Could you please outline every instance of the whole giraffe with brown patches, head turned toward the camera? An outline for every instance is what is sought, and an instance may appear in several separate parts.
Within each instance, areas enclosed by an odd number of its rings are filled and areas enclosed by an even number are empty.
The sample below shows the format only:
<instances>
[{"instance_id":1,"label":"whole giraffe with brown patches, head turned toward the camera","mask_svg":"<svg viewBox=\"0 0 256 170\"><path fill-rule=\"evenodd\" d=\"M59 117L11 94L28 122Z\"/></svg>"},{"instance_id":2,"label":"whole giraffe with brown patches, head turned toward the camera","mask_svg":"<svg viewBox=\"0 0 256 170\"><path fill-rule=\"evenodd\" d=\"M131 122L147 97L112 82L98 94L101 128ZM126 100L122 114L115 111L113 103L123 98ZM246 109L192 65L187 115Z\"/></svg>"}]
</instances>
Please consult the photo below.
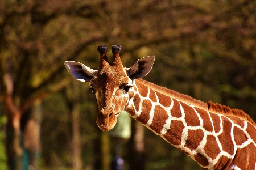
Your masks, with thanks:
<instances>
[{"instance_id":1,"label":"whole giraffe with brown patches, head turned toward the camera","mask_svg":"<svg viewBox=\"0 0 256 170\"><path fill-rule=\"evenodd\" d=\"M89 82L100 111L96 121L100 129L111 130L125 110L203 169L256 170L256 124L245 112L212 101L207 104L141 79L151 70L154 56L141 58L127 69L119 45L112 46L111 63L106 45L97 50L98 70L75 61L66 61L65 67L75 79Z\"/></svg>"}]
</instances>

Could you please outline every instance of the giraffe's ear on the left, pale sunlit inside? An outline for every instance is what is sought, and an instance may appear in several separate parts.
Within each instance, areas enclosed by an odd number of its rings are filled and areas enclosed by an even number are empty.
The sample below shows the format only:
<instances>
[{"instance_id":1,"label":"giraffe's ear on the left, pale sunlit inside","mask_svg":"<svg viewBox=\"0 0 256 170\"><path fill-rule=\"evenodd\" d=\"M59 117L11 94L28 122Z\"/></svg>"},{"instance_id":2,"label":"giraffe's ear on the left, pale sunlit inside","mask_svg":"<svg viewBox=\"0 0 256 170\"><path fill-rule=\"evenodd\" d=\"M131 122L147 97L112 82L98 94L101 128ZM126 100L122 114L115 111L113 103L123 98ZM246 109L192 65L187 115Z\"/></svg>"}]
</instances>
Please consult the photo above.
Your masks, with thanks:
<instances>
[{"instance_id":1,"label":"giraffe's ear on the left, pale sunlit inside","mask_svg":"<svg viewBox=\"0 0 256 170\"><path fill-rule=\"evenodd\" d=\"M65 61L64 65L73 78L81 82L89 82L97 73L97 70L90 69L80 62Z\"/></svg>"}]
</instances>

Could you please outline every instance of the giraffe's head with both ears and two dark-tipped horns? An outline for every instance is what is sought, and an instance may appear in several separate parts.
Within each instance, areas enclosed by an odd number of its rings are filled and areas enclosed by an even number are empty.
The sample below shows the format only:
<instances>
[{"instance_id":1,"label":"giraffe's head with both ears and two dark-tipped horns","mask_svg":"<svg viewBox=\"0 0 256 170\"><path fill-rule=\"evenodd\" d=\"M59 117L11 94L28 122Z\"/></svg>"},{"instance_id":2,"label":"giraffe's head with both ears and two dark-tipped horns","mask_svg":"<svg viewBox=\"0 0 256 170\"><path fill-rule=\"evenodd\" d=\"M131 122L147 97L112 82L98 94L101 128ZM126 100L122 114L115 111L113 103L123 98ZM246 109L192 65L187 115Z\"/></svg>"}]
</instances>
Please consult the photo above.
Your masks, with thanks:
<instances>
[{"instance_id":1,"label":"giraffe's head with both ears and two dark-tipped horns","mask_svg":"<svg viewBox=\"0 0 256 170\"><path fill-rule=\"evenodd\" d=\"M98 46L100 66L98 70L90 69L82 63L66 61L69 73L81 82L89 82L90 90L97 98L97 125L104 131L114 128L117 116L129 105L129 92L133 90L133 80L142 78L151 70L154 56L139 59L130 69L123 67L119 45L112 46L113 61L106 56L106 45Z\"/></svg>"}]
</instances>

